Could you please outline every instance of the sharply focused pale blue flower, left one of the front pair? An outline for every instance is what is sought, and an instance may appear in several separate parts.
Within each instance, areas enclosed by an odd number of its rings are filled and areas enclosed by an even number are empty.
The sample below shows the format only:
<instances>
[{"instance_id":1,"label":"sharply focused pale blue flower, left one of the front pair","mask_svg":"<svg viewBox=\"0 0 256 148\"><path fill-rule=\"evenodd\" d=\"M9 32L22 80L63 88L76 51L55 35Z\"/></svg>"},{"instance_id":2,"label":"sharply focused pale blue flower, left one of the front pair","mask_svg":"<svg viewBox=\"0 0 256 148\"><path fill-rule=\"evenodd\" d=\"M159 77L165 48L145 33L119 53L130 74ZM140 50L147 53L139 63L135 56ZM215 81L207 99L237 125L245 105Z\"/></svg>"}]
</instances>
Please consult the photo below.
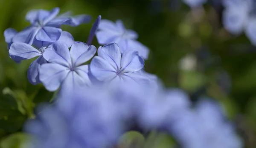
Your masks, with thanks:
<instances>
[{"instance_id":1,"label":"sharply focused pale blue flower, left one of the front pair","mask_svg":"<svg viewBox=\"0 0 256 148\"><path fill-rule=\"evenodd\" d=\"M90 84L88 65L82 65L96 53L96 47L83 42L75 42L70 50L61 41L57 41L44 51L48 62L39 69L39 80L47 90L55 91L64 82L64 87L75 87Z\"/></svg>"}]
</instances>

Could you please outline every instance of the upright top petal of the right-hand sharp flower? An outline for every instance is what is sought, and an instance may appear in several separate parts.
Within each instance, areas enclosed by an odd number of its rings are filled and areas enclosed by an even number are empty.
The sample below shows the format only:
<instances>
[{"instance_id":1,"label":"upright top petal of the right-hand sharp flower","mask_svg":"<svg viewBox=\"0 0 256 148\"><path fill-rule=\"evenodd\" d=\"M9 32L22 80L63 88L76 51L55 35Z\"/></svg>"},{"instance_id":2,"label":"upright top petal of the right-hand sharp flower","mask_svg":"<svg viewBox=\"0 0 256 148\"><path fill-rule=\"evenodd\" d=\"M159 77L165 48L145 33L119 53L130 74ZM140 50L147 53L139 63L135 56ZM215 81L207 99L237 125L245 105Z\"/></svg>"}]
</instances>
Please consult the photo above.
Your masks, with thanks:
<instances>
[{"instance_id":1,"label":"upright top petal of the right-hand sharp flower","mask_svg":"<svg viewBox=\"0 0 256 148\"><path fill-rule=\"evenodd\" d=\"M98 56L102 57L111 64L116 71L119 71L121 64L121 52L116 43L111 43L103 47L99 47Z\"/></svg>"}]
</instances>

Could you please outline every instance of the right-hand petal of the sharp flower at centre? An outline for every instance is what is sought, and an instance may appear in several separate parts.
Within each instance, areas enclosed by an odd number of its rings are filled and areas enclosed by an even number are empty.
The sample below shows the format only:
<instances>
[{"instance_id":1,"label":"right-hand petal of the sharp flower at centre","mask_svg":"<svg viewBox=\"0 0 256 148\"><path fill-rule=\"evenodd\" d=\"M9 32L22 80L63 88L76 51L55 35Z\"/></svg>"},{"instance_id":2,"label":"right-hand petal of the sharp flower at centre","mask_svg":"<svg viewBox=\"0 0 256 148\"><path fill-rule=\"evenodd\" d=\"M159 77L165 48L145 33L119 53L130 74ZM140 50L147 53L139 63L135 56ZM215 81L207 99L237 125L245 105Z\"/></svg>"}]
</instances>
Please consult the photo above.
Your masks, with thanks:
<instances>
[{"instance_id":1,"label":"right-hand petal of the sharp flower at centre","mask_svg":"<svg viewBox=\"0 0 256 148\"><path fill-rule=\"evenodd\" d=\"M121 58L121 67L123 72L139 71L144 67L144 60L137 51L125 50Z\"/></svg>"}]
</instances>

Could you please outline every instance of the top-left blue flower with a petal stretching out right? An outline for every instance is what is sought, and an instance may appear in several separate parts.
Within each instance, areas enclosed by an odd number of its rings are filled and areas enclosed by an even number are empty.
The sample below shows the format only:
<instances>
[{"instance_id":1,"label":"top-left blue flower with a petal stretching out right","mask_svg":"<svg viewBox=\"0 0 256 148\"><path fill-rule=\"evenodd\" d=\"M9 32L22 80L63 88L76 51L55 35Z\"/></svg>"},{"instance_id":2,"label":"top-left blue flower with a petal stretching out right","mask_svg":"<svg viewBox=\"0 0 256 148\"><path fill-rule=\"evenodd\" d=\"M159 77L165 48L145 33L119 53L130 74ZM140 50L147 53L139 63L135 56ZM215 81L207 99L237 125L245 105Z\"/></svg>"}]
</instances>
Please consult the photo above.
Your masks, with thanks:
<instances>
[{"instance_id":1,"label":"top-left blue flower with a petal stretching out right","mask_svg":"<svg viewBox=\"0 0 256 148\"><path fill-rule=\"evenodd\" d=\"M77 26L91 20L88 15L70 17L68 14L57 16L60 9L51 11L32 10L26 14L26 20L31 23L29 27L17 33L12 42L23 42L32 45L36 41L56 42L61 36L61 25Z\"/></svg>"}]
</instances>

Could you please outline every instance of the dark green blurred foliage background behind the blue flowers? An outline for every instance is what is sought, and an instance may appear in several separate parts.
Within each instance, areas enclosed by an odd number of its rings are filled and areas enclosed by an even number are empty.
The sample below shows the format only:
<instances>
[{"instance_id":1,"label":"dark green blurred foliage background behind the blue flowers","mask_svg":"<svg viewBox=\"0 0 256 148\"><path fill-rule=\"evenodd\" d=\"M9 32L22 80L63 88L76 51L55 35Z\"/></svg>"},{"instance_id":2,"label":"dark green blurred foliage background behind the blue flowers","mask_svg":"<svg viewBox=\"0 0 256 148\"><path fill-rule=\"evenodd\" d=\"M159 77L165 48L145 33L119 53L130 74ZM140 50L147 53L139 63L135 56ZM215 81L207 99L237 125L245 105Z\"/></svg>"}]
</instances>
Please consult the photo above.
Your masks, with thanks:
<instances>
[{"instance_id":1,"label":"dark green blurred foliage background behind the blue flowers","mask_svg":"<svg viewBox=\"0 0 256 148\"><path fill-rule=\"evenodd\" d=\"M22 131L25 120L34 117L34 107L54 96L42 85L28 82L27 69L34 59L16 64L9 58L3 31L27 27L24 18L31 9L54 7L61 13L93 17L89 24L62 28L81 42L87 41L99 14L102 19L122 20L150 49L145 71L157 75L166 87L186 90L192 101L208 96L223 103L246 147L255 148L256 47L244 34L234 36L223 28L220 0L209 0L197 9L181 0L0 0L1 147L9 148L6 137ZM99 47L96 38L93 45Z\"/></svg>"}]
</instances>

